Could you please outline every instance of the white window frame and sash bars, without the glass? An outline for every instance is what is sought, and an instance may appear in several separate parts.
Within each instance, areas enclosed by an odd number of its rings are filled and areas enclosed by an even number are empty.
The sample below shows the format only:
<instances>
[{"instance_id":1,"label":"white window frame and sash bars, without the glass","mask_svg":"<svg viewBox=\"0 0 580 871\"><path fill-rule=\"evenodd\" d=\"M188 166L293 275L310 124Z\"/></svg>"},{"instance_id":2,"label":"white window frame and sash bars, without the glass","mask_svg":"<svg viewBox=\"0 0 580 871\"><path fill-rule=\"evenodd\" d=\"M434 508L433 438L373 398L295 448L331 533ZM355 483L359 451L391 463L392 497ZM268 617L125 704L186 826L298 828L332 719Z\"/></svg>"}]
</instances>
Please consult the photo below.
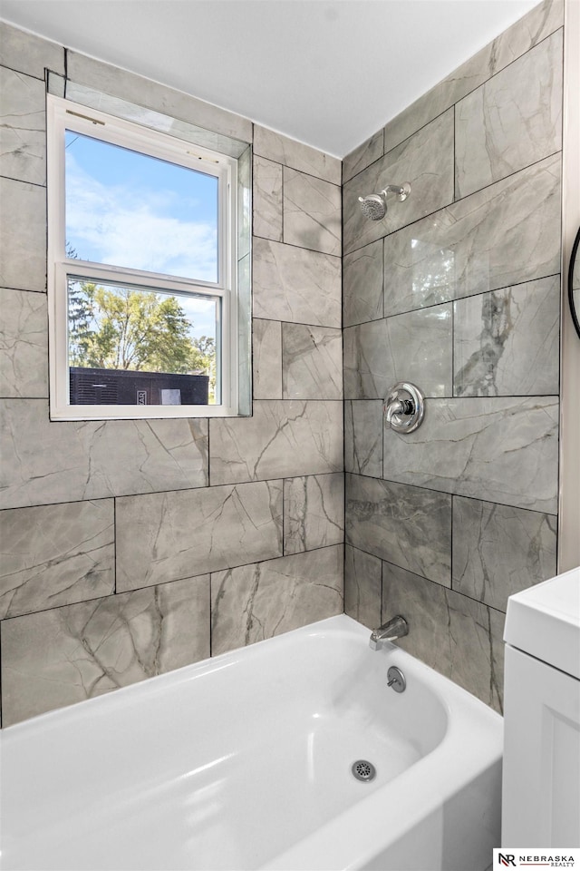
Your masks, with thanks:
<instances>
[{"instance_id":1,"label":"white window frame and sash bars, without the glass","mask_svg":"<svg viewBox=\"0 0 580 871\"><path fill-rule=\"evenodd\" d=\"M66 256L66 131L157 157L218 178L218 281L176 278L162 273L93 263ZM53 420L108 420L163 417L237 416L237 160L134 122L47 94L48 305L50 414ZM71 405L68 365L67 277L113 281L135 289L203 294L218 300L216 335L219 404L189 406Z\"/></svg>"}]
</instances>

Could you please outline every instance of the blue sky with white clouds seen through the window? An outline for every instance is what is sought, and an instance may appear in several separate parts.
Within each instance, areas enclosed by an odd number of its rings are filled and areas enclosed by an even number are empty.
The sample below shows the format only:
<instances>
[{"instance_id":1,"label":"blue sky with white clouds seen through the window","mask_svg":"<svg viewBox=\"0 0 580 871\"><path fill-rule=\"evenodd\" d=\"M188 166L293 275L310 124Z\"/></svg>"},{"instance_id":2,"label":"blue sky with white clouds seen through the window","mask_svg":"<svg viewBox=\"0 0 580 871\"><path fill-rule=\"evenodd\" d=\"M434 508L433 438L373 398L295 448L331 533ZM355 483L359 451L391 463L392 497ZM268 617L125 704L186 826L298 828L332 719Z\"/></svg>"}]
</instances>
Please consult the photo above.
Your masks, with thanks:
<instances>
[{"instance_id":1,"label":"blue sky with white clouds seen through the window","mask_svg":"<svg viewBox=\"0 0 580 871\"><path fill-rule=\"evenodd\" d=\"M80 259L218 279L218 181L139 152L66 133L66 241ZM180 297L195 335L215 335L212 303Z\"/></svg>"}]
</instances>

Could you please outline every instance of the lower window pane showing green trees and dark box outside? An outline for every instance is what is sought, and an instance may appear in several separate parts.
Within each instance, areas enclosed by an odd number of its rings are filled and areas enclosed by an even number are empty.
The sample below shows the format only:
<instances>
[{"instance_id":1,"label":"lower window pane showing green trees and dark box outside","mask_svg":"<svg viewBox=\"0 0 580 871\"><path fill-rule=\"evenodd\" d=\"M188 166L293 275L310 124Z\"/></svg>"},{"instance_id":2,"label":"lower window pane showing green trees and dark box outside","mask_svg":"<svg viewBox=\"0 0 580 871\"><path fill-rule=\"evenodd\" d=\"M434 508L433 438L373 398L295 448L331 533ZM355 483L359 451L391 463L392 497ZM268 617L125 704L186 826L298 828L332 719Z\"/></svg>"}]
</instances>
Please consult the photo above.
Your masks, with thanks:
<instances>
[{"instance_id":1,"label":"lower window pane showing green trees and dark box outside","mask_svg":"<svg viewBox=\"0 0 580 871\"><path fill-rule=\"evenodd\" d=\"M219 401L219 300L69 275L71 405Z\"/></svg>"}]
</instances>

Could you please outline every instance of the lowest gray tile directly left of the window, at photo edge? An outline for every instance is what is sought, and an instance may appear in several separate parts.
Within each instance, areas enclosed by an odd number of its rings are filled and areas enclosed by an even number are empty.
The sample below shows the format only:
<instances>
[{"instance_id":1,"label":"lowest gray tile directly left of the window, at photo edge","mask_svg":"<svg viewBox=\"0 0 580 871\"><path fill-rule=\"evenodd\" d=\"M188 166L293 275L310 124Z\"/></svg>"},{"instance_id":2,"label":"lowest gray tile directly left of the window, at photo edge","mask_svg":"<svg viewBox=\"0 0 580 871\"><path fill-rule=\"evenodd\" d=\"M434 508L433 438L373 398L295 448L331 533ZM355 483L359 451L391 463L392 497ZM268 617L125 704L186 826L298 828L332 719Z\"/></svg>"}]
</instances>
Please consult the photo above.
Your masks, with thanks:
<instances>
[{"instance_id":1,"label":"lowest gray tile directly left of the window, at photo edge","mask_svg":"<svg viewBox=\"0 0 580 871\"><path fill-rule=\"evenodd\" d=\"M46 294L0 289L0 396L48 396Z\"/></svg>"}]
</instances>

